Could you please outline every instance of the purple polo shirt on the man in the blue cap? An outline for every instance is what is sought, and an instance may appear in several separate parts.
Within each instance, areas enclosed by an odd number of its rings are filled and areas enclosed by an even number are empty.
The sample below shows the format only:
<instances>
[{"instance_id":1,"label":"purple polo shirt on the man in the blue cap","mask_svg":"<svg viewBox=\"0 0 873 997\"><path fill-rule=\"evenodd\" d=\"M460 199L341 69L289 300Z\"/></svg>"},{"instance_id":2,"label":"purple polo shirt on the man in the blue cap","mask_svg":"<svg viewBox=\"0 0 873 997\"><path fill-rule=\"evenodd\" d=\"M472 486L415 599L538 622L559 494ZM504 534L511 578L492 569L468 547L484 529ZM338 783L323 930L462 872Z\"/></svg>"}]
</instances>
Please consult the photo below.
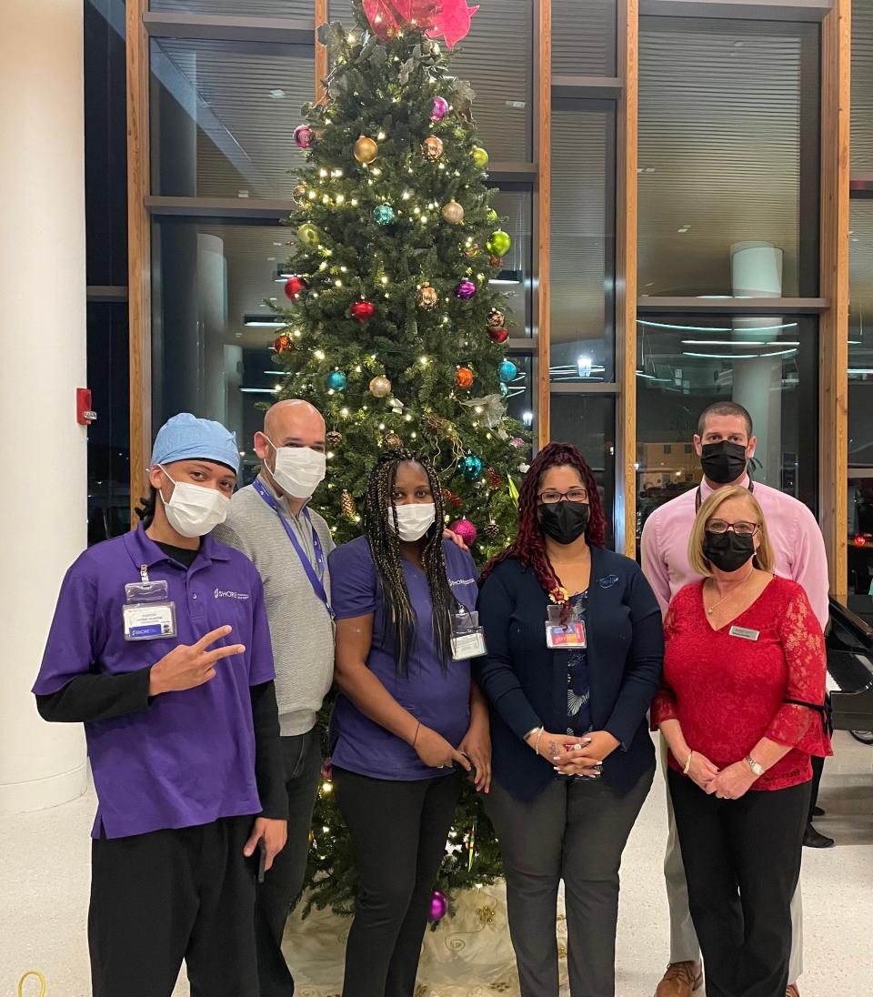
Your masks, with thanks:
<instances>
[{"instance_id":1,"label":"purple polo shirt on the man in the blue cap","mask_svg":"<svg viewBox=\"0 0 873 997\"><path fill-rule=\"evenodd\" d=\"M177 635L127 641L125 585L165 579ZM85 725L98 796L94 837L126 837L259 814L249 686L274 678L261 579L237 550L204 536L191 566L167 557L141 526L86 550L64 578L33 691L48 695L78 675L146 668L216 627L214 644L244 644L210 682L156 696L142 713Z\"/></svg>"}]
</instances>

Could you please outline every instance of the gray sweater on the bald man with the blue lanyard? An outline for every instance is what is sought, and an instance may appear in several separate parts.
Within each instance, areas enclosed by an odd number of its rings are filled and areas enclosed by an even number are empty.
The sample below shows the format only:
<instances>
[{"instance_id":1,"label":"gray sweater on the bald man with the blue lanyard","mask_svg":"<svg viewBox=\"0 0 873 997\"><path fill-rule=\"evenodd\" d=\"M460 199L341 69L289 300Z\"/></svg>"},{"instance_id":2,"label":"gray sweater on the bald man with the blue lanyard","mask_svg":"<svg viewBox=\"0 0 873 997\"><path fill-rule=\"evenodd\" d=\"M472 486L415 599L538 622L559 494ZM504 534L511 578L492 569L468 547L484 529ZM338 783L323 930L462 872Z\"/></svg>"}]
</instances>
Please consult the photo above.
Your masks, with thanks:
<instances>
[{"instance_id":1,"label":"gray sweater on the bald man with the blue lanyard","mask_svg":"<svg viewBox=\"0 0 873 997\"><path fill-rule=\"evenodd\" d=\"M259 481L275 497L263 476ZM325 556L324 584L330 598L327 555L334 541L327 523L318 512L310 510L310 526L302 513L291 514L284 499L278 502L313 565L312 527L318 531ZM315 726L316 714L333 681L330 614L315 594L278 515L252 486L240 489L230 499L227 519L212 530L212 535L241 550L260 572L276 662L279 726L283 737L305 734Z\"/></svg>"}]
</instances>

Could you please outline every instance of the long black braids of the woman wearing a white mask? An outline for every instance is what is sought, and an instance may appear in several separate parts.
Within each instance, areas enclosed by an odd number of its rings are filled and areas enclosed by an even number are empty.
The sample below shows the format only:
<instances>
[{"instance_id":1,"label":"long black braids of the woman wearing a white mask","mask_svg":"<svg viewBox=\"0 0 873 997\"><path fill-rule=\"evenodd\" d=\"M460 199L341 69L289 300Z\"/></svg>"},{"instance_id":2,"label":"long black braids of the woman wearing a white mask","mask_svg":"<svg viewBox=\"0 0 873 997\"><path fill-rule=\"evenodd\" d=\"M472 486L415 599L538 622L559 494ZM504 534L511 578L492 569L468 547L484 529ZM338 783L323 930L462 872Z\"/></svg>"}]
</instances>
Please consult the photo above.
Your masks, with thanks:
<instances>
[{"instance_id":1,"label":"long black braids of the woman wearing a white mask","mask_svg":"<svg viewBox=\"0 0 873 997\"><path fill-rule=\"evenodd\" d=\"M447 663L450 654L451 614L455 607L455 599L448 584L445 558L442 553L444 513L442 489L439 485L437 472L430 459L424 454L417 454L409 450L386 451L380 455L376 467L370 472L370 480L367 483L364 533L370 544L373 562L382 582L382 597L385 600L393 629L397 634L394 645L394 660L401 675L407 673L410 652L416 638L416 614L404 577L397 505L394 499L398 467L407 462L419 464L425 469L436 506L436 521L426 534L422 562L425 567L425 576L428 579L428 587L431 590L434 640L443 664ZM389 526L389 514L394 518L394 529Z\"/></svg>"}]
</instances>

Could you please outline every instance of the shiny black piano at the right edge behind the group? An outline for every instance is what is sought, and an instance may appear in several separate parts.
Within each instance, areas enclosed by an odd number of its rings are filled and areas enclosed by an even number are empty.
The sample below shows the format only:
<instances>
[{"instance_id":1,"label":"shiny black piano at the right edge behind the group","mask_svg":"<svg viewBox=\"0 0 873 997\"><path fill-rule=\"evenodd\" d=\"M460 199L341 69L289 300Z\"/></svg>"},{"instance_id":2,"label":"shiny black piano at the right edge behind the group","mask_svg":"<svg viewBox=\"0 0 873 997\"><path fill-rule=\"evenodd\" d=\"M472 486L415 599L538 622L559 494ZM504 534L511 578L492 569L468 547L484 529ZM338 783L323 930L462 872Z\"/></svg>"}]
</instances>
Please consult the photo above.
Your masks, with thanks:
<instances>
[{"instance_id":1,"label":"shiny black piano at the right edge behind the group","mask_svg":"<svg viewBox=\"0 0 873 997\"><path fill-rule=\"evenodd\" d=\"M873 627L832 598L826 643L833 728L873 745Z\"/></svg>"}]
</instances>

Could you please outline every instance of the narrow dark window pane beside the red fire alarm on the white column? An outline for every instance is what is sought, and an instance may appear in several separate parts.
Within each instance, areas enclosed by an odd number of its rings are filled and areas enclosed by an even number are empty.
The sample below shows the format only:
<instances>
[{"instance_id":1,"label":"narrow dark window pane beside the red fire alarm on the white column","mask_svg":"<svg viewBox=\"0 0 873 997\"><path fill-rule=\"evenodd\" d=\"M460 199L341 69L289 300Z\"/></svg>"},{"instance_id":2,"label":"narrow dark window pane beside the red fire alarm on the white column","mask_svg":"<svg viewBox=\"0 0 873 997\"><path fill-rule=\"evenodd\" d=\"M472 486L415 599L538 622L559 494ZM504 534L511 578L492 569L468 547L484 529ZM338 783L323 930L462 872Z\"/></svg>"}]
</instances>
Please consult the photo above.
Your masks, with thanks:
<instances>
[{"instance_id":1,"label":"narrow dark window pane beside the red fire alarm on the white column","mask_svg":"<svg viewBox=\"0 0 873 997\"><path fill-rule=\"evenodd\" d=\"M88 427L88 542L131 528L128 305L88 305L88 383L97 422Z\"/></svg>"}]
</instances>

